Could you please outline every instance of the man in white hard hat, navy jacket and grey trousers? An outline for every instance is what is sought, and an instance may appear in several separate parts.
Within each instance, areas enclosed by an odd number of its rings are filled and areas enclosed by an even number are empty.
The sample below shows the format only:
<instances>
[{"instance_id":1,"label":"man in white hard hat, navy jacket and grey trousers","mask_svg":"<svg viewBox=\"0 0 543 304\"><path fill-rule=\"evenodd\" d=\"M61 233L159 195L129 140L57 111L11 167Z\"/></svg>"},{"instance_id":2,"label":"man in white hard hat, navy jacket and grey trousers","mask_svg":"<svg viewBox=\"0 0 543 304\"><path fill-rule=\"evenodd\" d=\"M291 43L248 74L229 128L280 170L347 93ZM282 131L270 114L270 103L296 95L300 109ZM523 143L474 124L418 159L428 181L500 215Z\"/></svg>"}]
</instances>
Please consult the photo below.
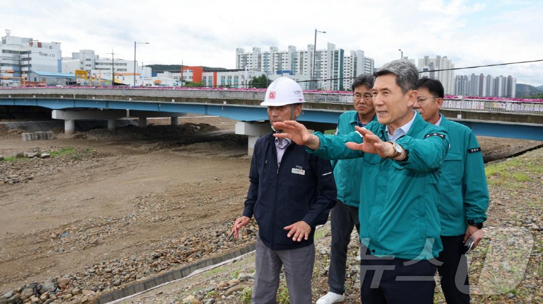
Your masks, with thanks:
<instances>
[{"instance_id":1,"label":"man in white hard hat, navy jacket and grey trousers","mask_svg":"<svg viewBox=\"0 0 543 304\"><path fill-rule=\"evenodd\" d=\"M304 101L300 85L280 77L268 87L261 105L268 106L269 121L274 124L296 120ZM252 216L258 223L251 302L276 302L283 267L290 302L310 304L315 226L326 222L336 201L330 161L271 132L256 141L249 180L243 216L236 219L232 232L237 238Z\"/></svg>"}]
</instances>

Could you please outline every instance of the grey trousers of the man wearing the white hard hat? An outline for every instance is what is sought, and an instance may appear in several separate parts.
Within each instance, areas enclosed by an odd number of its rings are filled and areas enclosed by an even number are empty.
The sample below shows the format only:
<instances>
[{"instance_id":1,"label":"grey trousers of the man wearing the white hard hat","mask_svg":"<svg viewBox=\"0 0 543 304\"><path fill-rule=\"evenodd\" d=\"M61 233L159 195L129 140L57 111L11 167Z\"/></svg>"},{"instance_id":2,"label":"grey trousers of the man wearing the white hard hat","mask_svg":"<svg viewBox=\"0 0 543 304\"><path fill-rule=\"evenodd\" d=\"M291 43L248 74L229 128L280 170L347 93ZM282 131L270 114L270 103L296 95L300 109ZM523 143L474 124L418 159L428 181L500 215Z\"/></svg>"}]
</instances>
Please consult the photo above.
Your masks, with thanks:
<instances>
[{"instance_id":1,"label":"grey trousers of the man wearing the white hard hat","mask_svg":"<svg viewBox=\"0 0 543 304\"><path fill-rule=\"evenodd\" d=\"M315 244L292 250L271 250L259 237L256 240L255 284L251 303L275 304L279 272L283 266L290 302L311 304L311 276L314 262Z\"/></svg>"}]
</instances>

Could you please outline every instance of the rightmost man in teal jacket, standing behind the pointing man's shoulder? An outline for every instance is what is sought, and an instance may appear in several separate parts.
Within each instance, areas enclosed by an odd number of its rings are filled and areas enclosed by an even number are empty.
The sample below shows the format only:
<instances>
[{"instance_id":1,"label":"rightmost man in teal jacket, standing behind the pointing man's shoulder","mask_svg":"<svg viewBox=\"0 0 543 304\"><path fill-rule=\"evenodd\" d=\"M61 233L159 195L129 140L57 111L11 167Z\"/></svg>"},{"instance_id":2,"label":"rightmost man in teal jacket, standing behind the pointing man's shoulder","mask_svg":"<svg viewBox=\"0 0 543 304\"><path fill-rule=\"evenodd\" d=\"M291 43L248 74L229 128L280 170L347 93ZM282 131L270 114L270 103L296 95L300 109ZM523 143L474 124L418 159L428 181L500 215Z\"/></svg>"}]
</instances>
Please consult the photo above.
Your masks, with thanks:
<instances>
[{"instance_id":1,"label":"rightmost man in teal jacket, standing behind the pointing man's shoulder","mask_svg":"<svg viewBox=\"0 0 543 304\"><path fill-rule=\"evenodd\" d=\"M417 92L414 108L427 122L449 131L451 143L438 184L441 191L438 209L443 243L443 251L438 257L443 263L438 266L441 289L447 304L469 303L464 243L471 238L473 247L477 246L483 237L483 222L487 219L488 187L483 156L470 128L439 114L444 98L443 85L439 80L420 79Z\"/></svg>"}]
</instances>

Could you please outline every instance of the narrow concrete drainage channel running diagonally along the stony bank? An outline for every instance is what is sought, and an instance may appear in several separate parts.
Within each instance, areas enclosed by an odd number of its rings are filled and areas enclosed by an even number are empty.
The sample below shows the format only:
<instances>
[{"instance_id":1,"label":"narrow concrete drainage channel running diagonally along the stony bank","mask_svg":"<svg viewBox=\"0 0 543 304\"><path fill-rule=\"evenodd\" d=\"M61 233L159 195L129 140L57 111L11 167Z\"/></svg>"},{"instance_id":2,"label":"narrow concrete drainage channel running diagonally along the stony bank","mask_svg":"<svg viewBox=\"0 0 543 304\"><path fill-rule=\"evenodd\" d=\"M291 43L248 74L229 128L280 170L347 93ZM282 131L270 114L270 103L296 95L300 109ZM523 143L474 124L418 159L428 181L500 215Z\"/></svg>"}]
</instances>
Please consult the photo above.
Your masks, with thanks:
<instances>
[{"instance_id":1,"label":"narrow concrete drainage channel running diagonally along the stony bank","mask_svg":"<svg viewBox=\"0 0 543 304\"><path fill-rule=\"evenodd\" d=\"M166 283L184 279L185 277L194 274L195 271L220 266L220 264L233 260L234 258L240 257L242 255L249 254L254 250L255 244L251 244L223 256L209 258L207 260L182 267L181 269L169 271L168 273L154 277L153 279L149 279L147 281L125 287L121 290L116 290L115 292L102 295L98 297L97 304L116 303L119 300L123 300L127 297L147 292L150 289L160 287Z\"/></svg>"}]
</instances>

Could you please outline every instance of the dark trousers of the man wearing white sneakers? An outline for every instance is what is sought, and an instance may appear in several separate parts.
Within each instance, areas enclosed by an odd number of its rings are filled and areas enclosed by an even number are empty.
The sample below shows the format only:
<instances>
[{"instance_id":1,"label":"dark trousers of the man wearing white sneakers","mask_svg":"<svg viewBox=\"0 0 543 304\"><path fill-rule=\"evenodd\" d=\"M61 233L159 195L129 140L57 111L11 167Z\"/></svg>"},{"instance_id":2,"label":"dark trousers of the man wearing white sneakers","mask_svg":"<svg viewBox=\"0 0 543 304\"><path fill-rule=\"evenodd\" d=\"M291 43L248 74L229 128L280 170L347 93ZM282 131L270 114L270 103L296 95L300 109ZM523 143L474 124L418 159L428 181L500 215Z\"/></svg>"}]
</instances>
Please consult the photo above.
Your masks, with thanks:
<instances>
[{"instance_id":1,"label":"dark trousers of the man wearing white sneakers","mask_svg":"<svg viewBox=\"0 0 543 304\"><path fill-rule=\"evenodd\" d=\"M338 200L336 206L332 208L331 213L332 248L330 250L328 286L331 292L343 294L345 292L347 249L351 241L352 228L356 227L358 235L360 234L358 208L345 205Z\"/></svg>"}]
</instances>

